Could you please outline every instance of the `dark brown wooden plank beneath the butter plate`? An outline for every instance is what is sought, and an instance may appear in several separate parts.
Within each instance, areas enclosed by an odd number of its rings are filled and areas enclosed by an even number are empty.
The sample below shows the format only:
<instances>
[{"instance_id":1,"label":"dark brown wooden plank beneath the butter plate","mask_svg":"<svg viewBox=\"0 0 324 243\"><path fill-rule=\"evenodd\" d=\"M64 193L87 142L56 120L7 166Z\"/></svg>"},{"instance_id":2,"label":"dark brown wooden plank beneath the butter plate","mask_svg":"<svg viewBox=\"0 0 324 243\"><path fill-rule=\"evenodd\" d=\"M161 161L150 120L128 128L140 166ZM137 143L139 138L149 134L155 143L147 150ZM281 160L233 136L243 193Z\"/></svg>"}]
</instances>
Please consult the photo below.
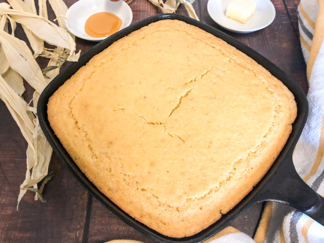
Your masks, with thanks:
<instances>
[{"instance_id":1,"label":"dark brown wooden plank beneath the butter plate","mask_svg":"<svg viewBox=\"0 0 324 243\"><path fill-rule=\"evenodd\" d=\"M198 1L198 0L197 0ZM208 0L199 0L203 12L202 22L224 31L248 45L290 75L304 92L308 90L306 64L300 42L295 34L282 0L272 0L276 17L268 27L247 34L233 33L216 24L207 11Z\"/></svg>"}]
</instances>

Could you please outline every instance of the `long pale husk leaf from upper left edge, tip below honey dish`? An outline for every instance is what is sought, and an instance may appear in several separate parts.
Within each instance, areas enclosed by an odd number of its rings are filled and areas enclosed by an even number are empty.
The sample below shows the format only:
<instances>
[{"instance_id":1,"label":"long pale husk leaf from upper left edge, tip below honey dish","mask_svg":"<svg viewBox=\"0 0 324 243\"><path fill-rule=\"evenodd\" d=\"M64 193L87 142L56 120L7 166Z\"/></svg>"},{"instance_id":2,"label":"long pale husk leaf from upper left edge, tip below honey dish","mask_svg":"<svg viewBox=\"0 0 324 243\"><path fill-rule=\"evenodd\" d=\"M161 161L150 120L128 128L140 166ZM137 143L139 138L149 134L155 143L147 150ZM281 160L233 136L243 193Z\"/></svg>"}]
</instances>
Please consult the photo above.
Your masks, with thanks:
<instances>
[{"instance_id":1,"label":"long pale husk leaf from upper left edge, tip below honey dish","mask_svg":"<svg viewBox=\"0 0 324 243\"><path fill-rule=\"evenodd\" d=\"M10 14L17 23L26 26L26 28L30 29L36 36L47 43L70 50L68 61L76 62L79 59L80 52L75 54L76 46L70 34L48 19L28 12L0 8L0 15L2 14Z\"/></svg>"}]
</instances>

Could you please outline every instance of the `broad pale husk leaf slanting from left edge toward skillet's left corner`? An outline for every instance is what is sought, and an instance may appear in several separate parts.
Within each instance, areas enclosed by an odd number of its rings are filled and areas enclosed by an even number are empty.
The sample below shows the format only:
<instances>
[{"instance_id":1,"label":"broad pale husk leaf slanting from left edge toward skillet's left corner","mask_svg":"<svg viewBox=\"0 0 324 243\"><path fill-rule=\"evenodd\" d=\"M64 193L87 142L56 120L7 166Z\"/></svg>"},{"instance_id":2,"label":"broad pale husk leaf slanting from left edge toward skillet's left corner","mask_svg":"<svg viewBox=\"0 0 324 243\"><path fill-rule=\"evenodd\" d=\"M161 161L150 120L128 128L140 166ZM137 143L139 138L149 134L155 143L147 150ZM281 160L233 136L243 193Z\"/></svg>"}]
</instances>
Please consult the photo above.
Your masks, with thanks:
<instances>
[{"instance_id":1,"label":"broad pale husk leaf slanting from left edge toward skillet's left corner","mask_svg":"<svg viewBox=\"0 0 324 243\"><path fill-rule=\"evenodd\" d=\"M0 42L10 67L18 72L31 87L41 93L47 82L26 43L1 29Z\"/></svg>"}]
</instances>

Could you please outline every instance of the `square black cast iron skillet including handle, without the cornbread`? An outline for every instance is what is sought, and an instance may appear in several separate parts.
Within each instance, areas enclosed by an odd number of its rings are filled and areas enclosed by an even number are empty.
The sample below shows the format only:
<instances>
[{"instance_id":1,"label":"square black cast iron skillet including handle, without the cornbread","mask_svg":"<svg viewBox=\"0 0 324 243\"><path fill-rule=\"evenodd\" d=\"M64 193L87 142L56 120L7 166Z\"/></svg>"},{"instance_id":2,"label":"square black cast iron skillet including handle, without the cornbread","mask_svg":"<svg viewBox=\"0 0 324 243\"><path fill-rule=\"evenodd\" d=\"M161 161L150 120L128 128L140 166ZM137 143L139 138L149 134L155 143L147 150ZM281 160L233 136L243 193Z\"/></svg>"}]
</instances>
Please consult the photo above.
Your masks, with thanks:
<instances>
[{"instance_id":1,"label":"square black cast iron skillet including handle, without the cornbread","mask_svg":"<svg viewBox=\"0 0 324 243\"><path fill-rule=\"evenodd\" d=\"M261 179L261 181L253 188L253 190L231 211L224 214L220 220L213 225L204 229L200 233L184 238L171 238L163 236L156 231L148 228L144 224L136 221L131 216L123 212L118 206L112 203L105 195L103 195L81 172L81 170L75 165L72 158L65 151L64 147L55 136L49 121L47 119L47 102L52 94L69 79L80 67L84 66L94 55L102 52L114 41L121 39L122 37L130 34L134 30L140 29L152 22L156 22L162 19L178 19L188 24L194 25L203 29L216 37L219 37L236 47L241 52L246 53L253 58L256 62L268 69L272 75L280 79L284 85L294 94L297 103L297 118L293 124L293 130L290 134L286 145L281 151L280 155L267 172L267 174ZM140 65L140 64L139 64ZM104 41L101 41L96 46L84 53L77 63L71 64L61 74L52 80L52 82L44 89L41 97L38 101L37 114L40 121L41 128L52 145L54 151L59 158L64 162L74 177L103 205L105 205L112 213L117 215L128 225L132 226L145 236L152 238L161 243L167 242L183 242L183 243L197 243L202 242L218 231L225 228L230 222L232 222L237 216L244 212L249 206L257 202L263 201L276 201L288 204L299 211L309 215L315 219L321 225L324 225L324 198L313 191L296 173L293 165L292 154L297 143L297 140L305 125L308 112L308 103L304 92L301 88L295 84L295 82L288 77L282 70L272 64L269 60L261 56L259 53L253 51L251 48L240 43L236 39L229 35L207 26L192 18L184 17L178 14L160 14L154 17L146 18L136 24L133 24L116 34L108 37Z\"/></svg>"}]
</instances>

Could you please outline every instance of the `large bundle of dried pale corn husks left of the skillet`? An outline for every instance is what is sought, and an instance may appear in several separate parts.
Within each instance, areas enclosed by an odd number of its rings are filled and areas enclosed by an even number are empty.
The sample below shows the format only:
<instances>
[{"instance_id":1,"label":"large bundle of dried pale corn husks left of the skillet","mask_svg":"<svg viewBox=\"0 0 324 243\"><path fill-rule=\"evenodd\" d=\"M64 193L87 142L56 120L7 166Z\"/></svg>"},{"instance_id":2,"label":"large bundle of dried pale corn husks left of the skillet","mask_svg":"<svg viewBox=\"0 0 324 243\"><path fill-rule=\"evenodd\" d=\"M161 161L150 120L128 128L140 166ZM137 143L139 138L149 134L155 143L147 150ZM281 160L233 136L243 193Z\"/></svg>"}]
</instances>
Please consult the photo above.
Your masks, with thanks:
<instances>
[{"instance_id":1,"label":"large bundle of dried pale corn husks left of the skillet","mask_svg":"<svg viewBox=\"0 0 324 243\"><path fill-rule=\"evenodd\" d=\"M59 25L57 27L47 18L46 0L40 0L40 16L36 15L35 2L33 0L9 0L14 9L6 3L0 4L0 98L5 102L8 110L17 122L28 148L26 177L20 186L18 204L27 190L36 192L35 200L42 198L42 190L47 181L52 177L48 174L48 167L52 156L52 147L47 142L37 118L37 102L42 90L59 73L59 69L66 61L77 61L80 55L75 54L75 42L66 32L66 26L62 14L67 7L62 0L51 0ZM65 11L65 12L64 12ZM12 29L16 22L21 23L29 42L34 50L34 56L38 55L50 58L46 71L46 78L29 48L24 41L8 34L7 20ZM13 34L13 33L12 33ZM46 49L43 40L58 46L55 49ZM45 70L44 70L45 71ZM30 107L20 96L24 92L22 77L35 88L33 95L33 107ZM32 170L32 173L30 171ZM45 178L45 179L44 179ZM37 183L42 179L40 189ZM17 209L18 209L17 204Z\"/></svg>"}]
</instances>

